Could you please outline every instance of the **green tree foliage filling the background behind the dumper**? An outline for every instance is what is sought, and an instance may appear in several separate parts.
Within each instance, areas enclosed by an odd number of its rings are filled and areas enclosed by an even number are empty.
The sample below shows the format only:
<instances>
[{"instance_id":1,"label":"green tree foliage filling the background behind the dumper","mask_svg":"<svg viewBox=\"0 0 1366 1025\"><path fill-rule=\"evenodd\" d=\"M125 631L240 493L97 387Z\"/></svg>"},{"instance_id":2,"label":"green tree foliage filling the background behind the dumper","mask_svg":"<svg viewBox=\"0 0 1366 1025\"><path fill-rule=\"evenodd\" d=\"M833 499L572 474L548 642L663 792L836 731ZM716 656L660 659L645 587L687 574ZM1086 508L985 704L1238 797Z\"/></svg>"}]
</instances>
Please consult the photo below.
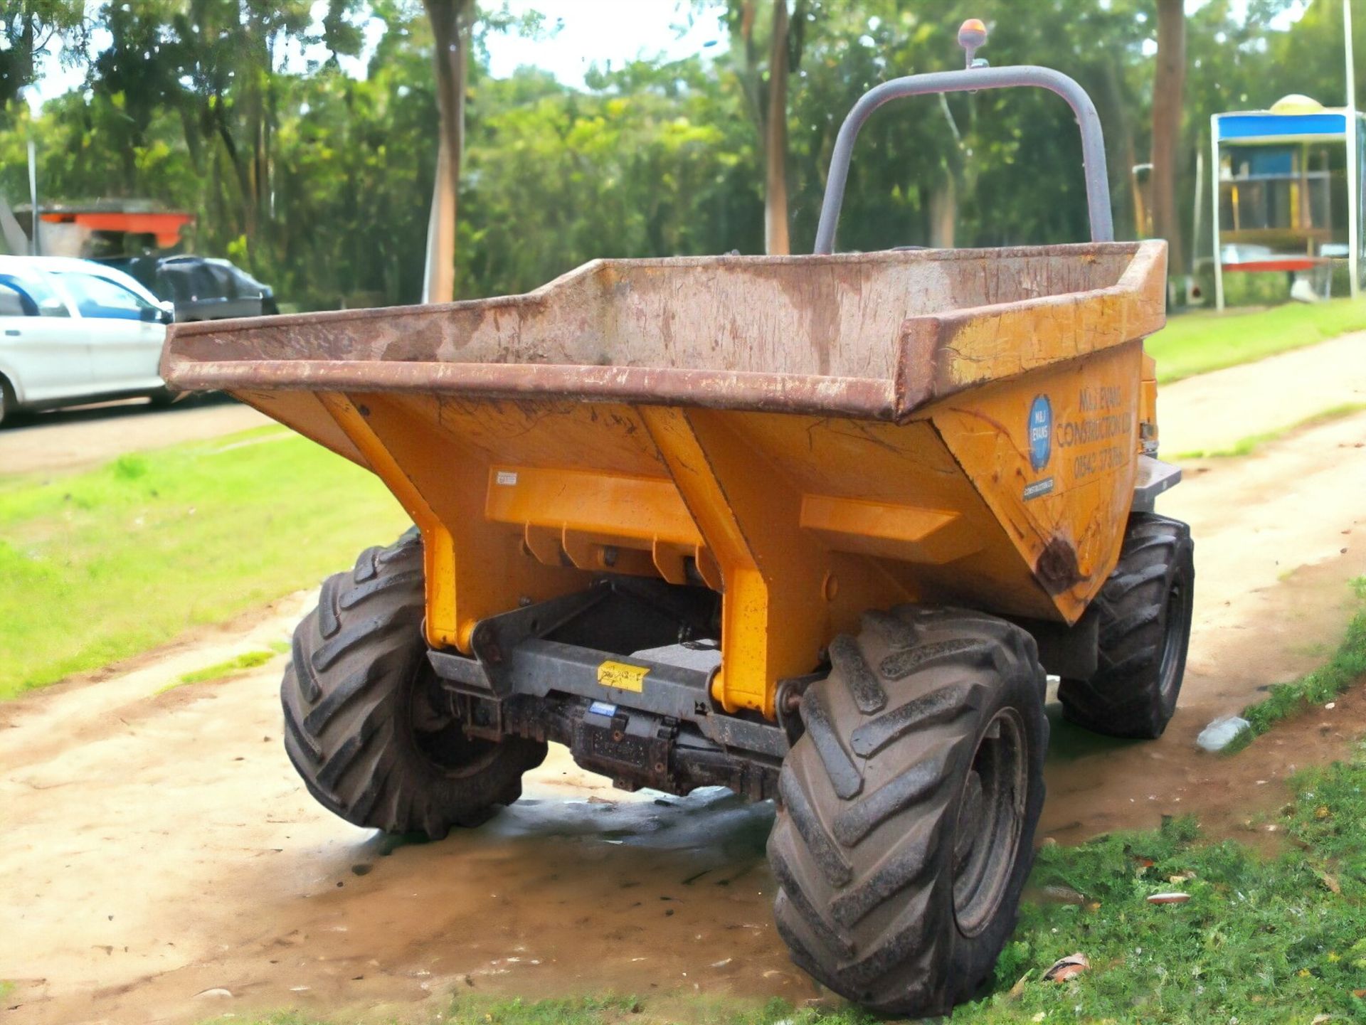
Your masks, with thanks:
<instances>
[{"instance_id":1,"label":"green tree foliage filling the background behind the dumper","mask_svg":"<svg viewBox=\"0 0 1366 1025\"><path fill-rule=\"evenodd\" d=\"M1269 104L1292 86L1333 96L1340 61L1321 55L1336 53L1335 4L1315 0L1287 31L1276 18L1288 5L1206 0L1190 14L1187 212L1210 112ZM755 11L762 55L768 4L694 10L720 12L719 29L734 35L744 7ZM38 117L16 87L8 102L0 94L0 194L27 194L31 136L45 195L191 210L191 248L242 262L287 304L417 300L437 123L432 34L417 0L105 0L75 20L82 5L20 8L61 34L86 83ZM788 195L792 248L807 251L844 112L878 82L958 67L962 11L949 0L802 0L792 10ZM1130 169L1147 156L1149 0L1041 0L1027 11L981 0L974 14L993 23L984 56L1061 68L1096 98L1119 232L1131 235ZM541 34L544 19L514 18L493 0L479 18L458 295L527 291L593 257L762 251L766 72L742 40L714 60L635 61L571 89L534 68L492 79L492 34ZM362 52L363 75L344 71ZM958 198L960 246L1085 239L1081 147L1065 104L1007 90L878 112L855 154L841 244L925 244L933 201L945 195Z\"/></svg>"}]
</instances>

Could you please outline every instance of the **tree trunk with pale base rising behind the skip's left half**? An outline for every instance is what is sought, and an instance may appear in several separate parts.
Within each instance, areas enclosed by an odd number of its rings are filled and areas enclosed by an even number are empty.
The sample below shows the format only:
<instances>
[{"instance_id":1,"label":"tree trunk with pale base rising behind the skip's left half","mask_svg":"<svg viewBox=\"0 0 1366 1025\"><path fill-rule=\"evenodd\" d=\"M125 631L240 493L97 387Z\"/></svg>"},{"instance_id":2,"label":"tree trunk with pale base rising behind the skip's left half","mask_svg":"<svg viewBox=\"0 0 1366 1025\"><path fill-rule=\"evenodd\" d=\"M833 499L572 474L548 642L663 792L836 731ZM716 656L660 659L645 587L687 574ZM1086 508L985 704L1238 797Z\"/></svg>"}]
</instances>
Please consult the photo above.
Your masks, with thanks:
<instances>
[{"instance_id":1,"label":"tree trunk with pale base rising behind the skip's left half","mask_svg":"<svg viewBox=\"0 0 1366 1025\"><path fill-rule=\"evenodd\" d=\"M455 207L464 147L464 79L474 0L422 0L436 40L437 161L422 302L455 299Z\"/></svg>"}]
</instances>

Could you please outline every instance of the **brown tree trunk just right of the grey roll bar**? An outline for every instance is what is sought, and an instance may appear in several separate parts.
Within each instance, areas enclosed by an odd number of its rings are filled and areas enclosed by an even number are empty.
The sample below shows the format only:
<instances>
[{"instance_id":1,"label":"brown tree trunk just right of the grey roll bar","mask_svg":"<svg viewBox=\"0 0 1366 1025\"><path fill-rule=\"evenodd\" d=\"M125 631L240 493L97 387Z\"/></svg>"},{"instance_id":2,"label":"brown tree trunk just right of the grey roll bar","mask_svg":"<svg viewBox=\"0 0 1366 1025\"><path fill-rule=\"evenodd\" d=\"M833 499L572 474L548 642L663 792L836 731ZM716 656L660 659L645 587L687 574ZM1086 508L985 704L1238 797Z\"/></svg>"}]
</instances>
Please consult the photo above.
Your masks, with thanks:
<instances>
[{"instance_id":1,"label":"brown tree trunk just right of the grey roll bar","mask_svg":"<svg viewBox=\"0 0 1366 1025\"><path fill-rule=\"evenodd\" d=\"M1153 233L1167 239L1167 270L1172 276L1186 273L1186 254L1176 212L1176 150L1182 135L1184 85L1183 0L1157 0L1157 74L1153 76Z\"/></svg>"}]
</instances>

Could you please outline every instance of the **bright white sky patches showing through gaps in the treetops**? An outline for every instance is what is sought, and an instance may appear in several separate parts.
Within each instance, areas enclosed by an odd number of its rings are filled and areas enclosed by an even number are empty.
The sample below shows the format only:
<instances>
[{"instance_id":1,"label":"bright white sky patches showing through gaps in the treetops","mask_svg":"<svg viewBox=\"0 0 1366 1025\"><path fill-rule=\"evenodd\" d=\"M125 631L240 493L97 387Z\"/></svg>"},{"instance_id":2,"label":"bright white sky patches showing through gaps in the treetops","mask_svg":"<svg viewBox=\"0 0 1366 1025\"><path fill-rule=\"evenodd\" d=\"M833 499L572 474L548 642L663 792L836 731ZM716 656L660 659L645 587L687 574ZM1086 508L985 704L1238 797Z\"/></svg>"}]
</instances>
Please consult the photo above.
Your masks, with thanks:
<instances>
[{"instance_id":1,"label":"bright white sky patches showing through gaps in the treetops","mask_svg":"<svg viewBox=\"0 0 1366 1025\"><path fill-rule=\"evenodd\" d=\"M522 64L534 64L552 72L570 86L582 86L583 75L593 64L620 67L638 56L678 59L698 52L719 52L725 46L719 16L724 0L710 3L710 10L694 5L691 0L508 0L512 14L529 10L545 15L548 34L544 38L525 38L515 33L489 38L489 61L496 76L511 75ZM321 19L325 3L314 7ZM373 46L380 22L372 20L366 30ZM96 45L100 40L96 38ZM369 46L367 46L369 49ZM305 57L325 59L326 52L307 53L295 48L284 55L287 66L298 66ZM365 74L366 57L343 60L347 72ZM83 71L61 66L59 52L49 52L40 60L41 76L29 89L29 105L37 108L45 100L61 96L81 85Z\"/></svg>"}]
</instances>

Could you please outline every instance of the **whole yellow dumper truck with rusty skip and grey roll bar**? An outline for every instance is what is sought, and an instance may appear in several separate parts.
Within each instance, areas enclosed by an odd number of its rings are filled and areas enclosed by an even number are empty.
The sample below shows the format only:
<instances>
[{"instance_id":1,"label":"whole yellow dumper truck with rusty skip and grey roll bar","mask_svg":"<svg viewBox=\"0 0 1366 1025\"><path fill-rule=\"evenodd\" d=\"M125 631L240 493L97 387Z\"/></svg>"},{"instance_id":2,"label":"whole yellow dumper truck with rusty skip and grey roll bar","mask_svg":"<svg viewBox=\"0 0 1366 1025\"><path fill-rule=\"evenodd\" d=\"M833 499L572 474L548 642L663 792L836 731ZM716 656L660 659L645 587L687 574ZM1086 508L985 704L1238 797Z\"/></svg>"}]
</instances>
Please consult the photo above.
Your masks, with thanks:
<instances>
[{"instance_id":1,"label":"whole yellow dumper truck with rusty skip and grey roll bar","mask_svg":"<svg viewBox=\"0 0 1366 1025\"><path fill-rule=\"evenodd\" d=\"M331 577L290 759L359 826L440 838L546 742L617 786L773 798L792 958L881 1011L989 981L1044 801L1045 674L1113 736L1171 718L1187 527L1153 512L1161 242L1115 243L1096 111L974 60L850 113L817 252L604 259L529 295L178 325L164 375L373 471L415 528ZM887 100L1041 86L1093 239L835 252Z\"/></svg>"}]
</instances>

